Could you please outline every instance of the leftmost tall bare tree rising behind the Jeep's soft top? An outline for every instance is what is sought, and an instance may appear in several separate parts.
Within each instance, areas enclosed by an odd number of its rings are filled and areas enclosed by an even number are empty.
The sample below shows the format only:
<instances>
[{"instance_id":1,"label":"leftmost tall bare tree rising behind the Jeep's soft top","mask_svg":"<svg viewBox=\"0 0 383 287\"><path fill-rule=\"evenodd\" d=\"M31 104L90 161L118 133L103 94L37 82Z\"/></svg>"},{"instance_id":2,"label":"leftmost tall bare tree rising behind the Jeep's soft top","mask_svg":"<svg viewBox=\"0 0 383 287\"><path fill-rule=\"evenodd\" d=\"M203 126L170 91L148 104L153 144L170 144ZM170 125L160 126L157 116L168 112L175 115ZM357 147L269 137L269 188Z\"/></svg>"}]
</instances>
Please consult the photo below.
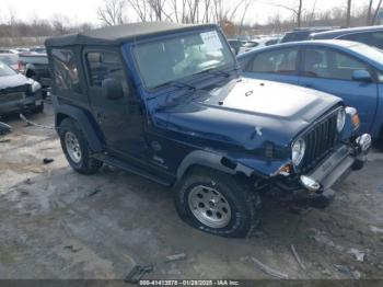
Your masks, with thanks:
<instances>
[{"instance_id":1,"label":"leftmost tall bare tree rising behind the Jeep's soft top","mask_svg":"<svg viewBox=\"0 0 383 287\"><path fill-rule=\"evenodd\" d=\"M104 0L104 4L98 7L98 20L106 26L124 24L124 0Z\"/></svg>"}]
</instances>

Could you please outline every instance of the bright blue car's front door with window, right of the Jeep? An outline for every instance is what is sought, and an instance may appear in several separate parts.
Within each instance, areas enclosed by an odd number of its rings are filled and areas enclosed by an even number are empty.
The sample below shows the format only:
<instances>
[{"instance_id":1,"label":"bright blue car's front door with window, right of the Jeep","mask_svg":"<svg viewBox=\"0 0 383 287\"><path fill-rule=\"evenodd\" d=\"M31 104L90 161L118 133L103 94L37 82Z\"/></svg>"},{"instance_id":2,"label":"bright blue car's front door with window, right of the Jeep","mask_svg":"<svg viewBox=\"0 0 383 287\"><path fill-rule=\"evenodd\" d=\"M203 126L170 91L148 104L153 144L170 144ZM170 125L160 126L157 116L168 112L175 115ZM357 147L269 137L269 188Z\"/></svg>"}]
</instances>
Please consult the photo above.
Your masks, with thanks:
<instances>
[{"instance_id":1,"label":"bright blue car's front door with window, right of the Jeep","mask_svg":"<svg viewBox=\"0 0 383 287\"><path fill-rule=\"evenodd\" d=\"M371 81L353 80L357 70L370 71L363 61L343 51L310 47L303 51L300 85L327 92L358 110L363 133L369 133L378 105L378 85Z\"/></svg>"}]
</instances>

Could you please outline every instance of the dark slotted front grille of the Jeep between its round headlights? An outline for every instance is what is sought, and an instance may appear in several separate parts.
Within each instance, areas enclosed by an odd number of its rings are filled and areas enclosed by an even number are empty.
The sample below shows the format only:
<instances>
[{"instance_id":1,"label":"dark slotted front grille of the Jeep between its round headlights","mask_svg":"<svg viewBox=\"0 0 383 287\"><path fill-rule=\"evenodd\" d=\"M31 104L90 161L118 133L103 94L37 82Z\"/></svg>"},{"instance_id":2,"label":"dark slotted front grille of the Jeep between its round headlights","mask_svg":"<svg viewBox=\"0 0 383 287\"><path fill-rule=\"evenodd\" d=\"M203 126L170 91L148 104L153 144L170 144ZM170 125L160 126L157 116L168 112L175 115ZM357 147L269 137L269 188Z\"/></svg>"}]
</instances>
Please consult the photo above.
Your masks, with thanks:
<instances>
[{"instance_id":1,"label":"dark slotted front grille of the Jeep between its round headlights","mask_svg":"<svg viewBox=\"0 0 383 287\"><path fill-rule=\"evenodd\" d=\"M307 171L314 168L336 145L338 131L336 127L338 108L332 111L311 126L302 136L306 142L306 151L299 169Z\"/></svg>"}]
</instances>

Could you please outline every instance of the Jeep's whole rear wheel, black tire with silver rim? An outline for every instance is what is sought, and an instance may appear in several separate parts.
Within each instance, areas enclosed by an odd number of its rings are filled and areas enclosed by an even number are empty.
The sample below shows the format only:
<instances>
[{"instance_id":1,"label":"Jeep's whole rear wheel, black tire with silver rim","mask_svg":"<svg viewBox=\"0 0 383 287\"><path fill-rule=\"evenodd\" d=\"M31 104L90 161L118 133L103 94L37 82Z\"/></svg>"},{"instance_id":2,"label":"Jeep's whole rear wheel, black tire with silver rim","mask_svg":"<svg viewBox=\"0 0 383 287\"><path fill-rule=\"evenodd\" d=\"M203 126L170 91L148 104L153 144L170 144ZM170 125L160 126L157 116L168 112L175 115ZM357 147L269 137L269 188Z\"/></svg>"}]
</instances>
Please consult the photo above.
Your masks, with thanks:
<instances>
[{"instance_id":1,"label":"Jeep's whole rear wheel, black tire with silver rim","mask_svg":"<svg viewBox=\"0 0 383 287\"><path fill-rule=\"evenodd\" d=\"M94 174L103 165L101 161L91 157L86 138L74 119L62 120L59 136L62 151L73 170L82 174Z\"/></svg>"}]
</instances>

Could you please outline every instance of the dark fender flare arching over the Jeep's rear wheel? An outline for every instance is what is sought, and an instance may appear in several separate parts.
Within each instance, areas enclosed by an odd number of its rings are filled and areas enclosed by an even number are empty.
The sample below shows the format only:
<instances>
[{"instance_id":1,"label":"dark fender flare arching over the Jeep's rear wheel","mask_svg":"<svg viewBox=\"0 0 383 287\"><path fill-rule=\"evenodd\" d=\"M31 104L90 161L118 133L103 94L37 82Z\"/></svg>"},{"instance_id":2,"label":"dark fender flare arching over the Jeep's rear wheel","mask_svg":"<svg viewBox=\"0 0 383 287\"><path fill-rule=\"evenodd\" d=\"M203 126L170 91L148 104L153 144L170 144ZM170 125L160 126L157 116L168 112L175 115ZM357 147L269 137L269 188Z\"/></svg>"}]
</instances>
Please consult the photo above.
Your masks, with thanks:
<instances>
[{"instance_id":1,"label":"dark fender flare arching over the Jeep's rear wheel","mask_svg":"<svg viewBox=\"0 0 383 287\"><path fill-rule=\"evenodd\" d=\"M55 127L58 129L60 116L65 115L76 119L80 126L82 131L85 134L89 145L93 152L102 152L103 144L100 137L97 136L96 129L94 125L92 125L91 120L86 116L85 112L79 107L70 106L66 104L58 104L56 96L53 96L53 102L55 106Z\"/></svg>"}]
</instances>

